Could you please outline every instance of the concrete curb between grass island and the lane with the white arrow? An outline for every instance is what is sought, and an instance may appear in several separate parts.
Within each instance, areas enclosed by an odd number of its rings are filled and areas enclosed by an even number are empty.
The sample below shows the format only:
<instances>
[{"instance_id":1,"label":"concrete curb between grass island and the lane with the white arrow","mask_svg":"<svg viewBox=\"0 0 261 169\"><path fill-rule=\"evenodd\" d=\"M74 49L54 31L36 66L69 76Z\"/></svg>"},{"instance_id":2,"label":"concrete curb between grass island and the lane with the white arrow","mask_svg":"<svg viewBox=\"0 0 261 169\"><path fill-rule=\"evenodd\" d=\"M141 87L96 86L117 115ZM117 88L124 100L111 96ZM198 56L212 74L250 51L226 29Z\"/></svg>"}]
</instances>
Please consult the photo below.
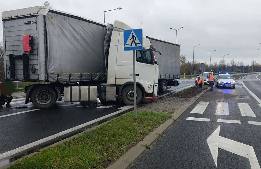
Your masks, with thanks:
<instances>
[{"instance_id":1,"label":"concrete curb between grass island and the lane with the white arrow","mask_svg":"<svg viewBox=\"0 0 261 169\"><path fill-rule=\"evenodd\" d=\"M149 135L147 135L136 146L133 146L129 151L123 154L123 156L121 156L115 163L107 167L107 169L116 169L116 168L127 169L146 150L146 148L144 147L145 144L150 145L152 142L154 142L159 137L159 134L162 134L170 125L172 125L173 122L176 121L176 119L185 110L187 110L193 103L196 102L196 100L198 100L207 91L208 89L197 94L189 102L185 103L185 105L182 108L172 113L171 114L172 118L165 121L163 124L159 125L159 127L157 127L154 131L149 133Z\"/></svg>"}]
</instances>

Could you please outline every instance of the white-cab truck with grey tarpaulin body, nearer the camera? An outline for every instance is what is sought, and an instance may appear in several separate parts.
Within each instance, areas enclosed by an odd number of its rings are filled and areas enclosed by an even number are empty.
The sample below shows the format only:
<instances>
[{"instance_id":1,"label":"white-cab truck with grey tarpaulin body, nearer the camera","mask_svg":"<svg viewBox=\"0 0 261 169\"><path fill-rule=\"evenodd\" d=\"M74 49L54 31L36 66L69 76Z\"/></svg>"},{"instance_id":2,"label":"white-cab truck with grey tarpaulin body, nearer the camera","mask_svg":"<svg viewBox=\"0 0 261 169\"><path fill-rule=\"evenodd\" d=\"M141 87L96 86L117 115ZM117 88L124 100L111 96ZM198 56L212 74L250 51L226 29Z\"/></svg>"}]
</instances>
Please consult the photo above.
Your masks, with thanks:
<instances>
[{"instance_id":1,"label":"white-cab truck with grey tarpaulin body, nearer the camera","mask_svg":"<svg viewBox=\"0 0 261 169\"><path fill-rule=\"evenodd\" d=\"M127 24L40 6L2 12L2 21L5 80L45 82L24 88L25 104L46 109L62 97L134 104L133 52L123 45L123 30L132 29ZM135 51L137 103L155 100L159 81L159 52L147 36L142 41Z\"/></svg>"}]
</instances>

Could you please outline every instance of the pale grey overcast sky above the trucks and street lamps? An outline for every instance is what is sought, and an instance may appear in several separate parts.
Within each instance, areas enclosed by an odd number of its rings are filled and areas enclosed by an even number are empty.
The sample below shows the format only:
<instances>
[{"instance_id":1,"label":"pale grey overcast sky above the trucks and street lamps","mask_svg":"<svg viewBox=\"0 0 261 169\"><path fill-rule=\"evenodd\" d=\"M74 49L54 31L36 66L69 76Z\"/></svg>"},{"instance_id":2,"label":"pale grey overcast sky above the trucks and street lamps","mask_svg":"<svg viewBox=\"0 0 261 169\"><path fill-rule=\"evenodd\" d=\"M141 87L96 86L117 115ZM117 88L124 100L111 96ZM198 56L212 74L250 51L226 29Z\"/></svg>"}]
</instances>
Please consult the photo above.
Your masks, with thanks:
<instances>
[{"instance_id":1,"label":"pale grey overcast sky above the trucks and street lamps","mask_svg":"<svg viewBox=\"0 0 261 169\"><path fill-rule=\"evenodd\" d=\"M1 1L2 11L41 6L44 0ZM225 56L238 56L235 62L245 64L256 61L261 64L261 1L260 0L49 0L53 8L74 13L85 18L103 22L103 11L122 7L105 13L106 23L120 20L132 28L143 28L143 33L181 44L181 54L193 60L210 63ZM141 24L142 23L142 24ZM0 40L3 40L3 26L0 22Z\"/></svg>"}]
</instances>

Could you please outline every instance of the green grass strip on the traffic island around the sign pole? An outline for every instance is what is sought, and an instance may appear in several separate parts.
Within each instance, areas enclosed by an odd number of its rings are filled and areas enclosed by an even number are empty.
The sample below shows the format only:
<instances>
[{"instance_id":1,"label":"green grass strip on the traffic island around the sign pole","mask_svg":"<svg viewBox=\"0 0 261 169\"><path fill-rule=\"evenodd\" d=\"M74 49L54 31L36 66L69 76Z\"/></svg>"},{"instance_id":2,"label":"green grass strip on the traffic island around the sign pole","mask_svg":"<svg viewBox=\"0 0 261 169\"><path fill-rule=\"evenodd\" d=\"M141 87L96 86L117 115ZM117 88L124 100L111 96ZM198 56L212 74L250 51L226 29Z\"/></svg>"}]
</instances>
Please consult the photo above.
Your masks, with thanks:
<instances>
[{"instance_id":1,"label":"green grass strip on the traffic island around the sign pole","mask_svg":"<svg viewBox=\"0 0 261 169\"><path fill-rule=\"evenodd\" d=\"M9 168L106 168L171 116L128 113L83 135L24 157Z\"/></svg>"}]
</instances>

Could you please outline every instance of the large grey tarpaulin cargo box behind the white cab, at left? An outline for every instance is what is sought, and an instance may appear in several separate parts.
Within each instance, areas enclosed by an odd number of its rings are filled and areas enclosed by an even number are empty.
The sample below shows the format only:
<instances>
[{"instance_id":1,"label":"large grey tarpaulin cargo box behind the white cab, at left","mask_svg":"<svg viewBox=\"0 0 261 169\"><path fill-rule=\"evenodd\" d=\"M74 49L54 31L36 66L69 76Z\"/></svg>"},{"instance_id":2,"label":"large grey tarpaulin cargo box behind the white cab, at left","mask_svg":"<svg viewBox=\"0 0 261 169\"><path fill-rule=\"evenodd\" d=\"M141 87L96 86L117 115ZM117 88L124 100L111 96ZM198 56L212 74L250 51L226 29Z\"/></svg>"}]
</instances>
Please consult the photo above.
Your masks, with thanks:
<instances>
[{"instance_id":1,"label":"large grey tarpaulin cargo box behind the white cab, at left","mask_svg":"<svg viewBox=\"0 0 261 169\"><path fill-rule=\"evenodd\" d=\"M21 81L105 81L103 23L45 7L2 13L5 79ZM23 35L32 38L24 54Z\"/></svg>"}]
</instances>

